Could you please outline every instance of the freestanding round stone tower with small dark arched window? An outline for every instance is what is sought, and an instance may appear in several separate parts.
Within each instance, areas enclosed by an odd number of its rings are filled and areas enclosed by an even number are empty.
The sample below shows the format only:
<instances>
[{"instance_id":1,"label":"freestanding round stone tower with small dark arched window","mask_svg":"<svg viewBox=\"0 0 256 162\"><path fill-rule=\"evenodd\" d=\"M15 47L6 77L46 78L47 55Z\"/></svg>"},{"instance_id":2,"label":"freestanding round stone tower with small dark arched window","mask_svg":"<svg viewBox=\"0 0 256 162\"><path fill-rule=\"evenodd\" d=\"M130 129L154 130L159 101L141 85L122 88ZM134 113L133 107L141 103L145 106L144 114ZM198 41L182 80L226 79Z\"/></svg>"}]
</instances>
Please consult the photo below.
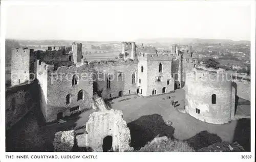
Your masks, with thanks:
<instances>
[{"instance_id":1,"label":"freestanding round stone tower with small dark arched window","mask_svg":"<svg viewBox=\"0 0 256 162\"><path fill-rule=\"evenodd\" d=\"M207 123L228 123L234 106L231 76L217 70L209 74L205 69L193 68L186 78L186 112ZM216 104L212 103L212 94L216 94Z\"/></svg>"}]
</instances>

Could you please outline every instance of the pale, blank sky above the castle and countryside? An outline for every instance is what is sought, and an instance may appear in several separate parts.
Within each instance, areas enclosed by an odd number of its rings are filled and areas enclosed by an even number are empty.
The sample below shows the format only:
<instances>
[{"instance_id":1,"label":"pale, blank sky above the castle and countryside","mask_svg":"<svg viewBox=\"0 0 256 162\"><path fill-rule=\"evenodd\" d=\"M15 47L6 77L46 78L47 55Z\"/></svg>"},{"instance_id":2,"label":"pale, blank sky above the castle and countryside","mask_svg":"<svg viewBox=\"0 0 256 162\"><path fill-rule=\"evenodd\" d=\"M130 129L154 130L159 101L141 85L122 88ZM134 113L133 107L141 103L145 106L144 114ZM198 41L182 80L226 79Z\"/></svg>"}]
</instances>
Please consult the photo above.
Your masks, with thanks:
<instances>
[{"instance_id":1,"label":"pale, blank sky above the castle and countryside","mask_svg":"<svg viewBox=\"0 0 256 162\"><path fill-rule=\"evenodd\" d=\"M134 41L151 38L250 40L248 4L96 1L7 6L6 38ZM253 29L255 30L255 29Z\"/></svg>"}]
</instances>

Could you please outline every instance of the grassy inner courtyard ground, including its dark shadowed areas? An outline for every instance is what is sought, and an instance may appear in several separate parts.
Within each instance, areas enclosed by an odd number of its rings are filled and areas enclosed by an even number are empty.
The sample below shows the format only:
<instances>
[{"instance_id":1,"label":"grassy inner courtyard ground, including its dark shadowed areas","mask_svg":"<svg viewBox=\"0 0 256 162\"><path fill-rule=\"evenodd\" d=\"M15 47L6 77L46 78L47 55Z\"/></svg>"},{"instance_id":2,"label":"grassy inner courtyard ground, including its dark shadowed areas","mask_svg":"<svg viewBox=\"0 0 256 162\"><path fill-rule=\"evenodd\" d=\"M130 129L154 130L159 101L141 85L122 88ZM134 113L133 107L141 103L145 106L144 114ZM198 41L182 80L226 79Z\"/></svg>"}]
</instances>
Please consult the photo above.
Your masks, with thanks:
<instances>
[{"instance_id":1,"label":"grassy inner courtyard ground, including its dark shadowed areas","mask_svg":"<svg viewBox=\"0 0 256 162\"><path fill-rule=\"evenodd\" d=\"M247 151L250 150L250 119L233 120L223 125L204 123L176 110L184 106L184 95L182 89L151 97L130 95L113 99L111 105L123 112L131 131L131 145L136 149L157 136L167 136L185 140L196 150L222 141L237 141ZM169 96L176 96L177 107L171 106ZM45 126L40 126L36 116L30 112L7 133L6 151L53 151L55 133L85 125L92 112L83 112L65 119L63 123ZM172 125L167 126L164 120L171 121ZM82 133L83 130L77 132Z\"/></svg>"}]
</instances>

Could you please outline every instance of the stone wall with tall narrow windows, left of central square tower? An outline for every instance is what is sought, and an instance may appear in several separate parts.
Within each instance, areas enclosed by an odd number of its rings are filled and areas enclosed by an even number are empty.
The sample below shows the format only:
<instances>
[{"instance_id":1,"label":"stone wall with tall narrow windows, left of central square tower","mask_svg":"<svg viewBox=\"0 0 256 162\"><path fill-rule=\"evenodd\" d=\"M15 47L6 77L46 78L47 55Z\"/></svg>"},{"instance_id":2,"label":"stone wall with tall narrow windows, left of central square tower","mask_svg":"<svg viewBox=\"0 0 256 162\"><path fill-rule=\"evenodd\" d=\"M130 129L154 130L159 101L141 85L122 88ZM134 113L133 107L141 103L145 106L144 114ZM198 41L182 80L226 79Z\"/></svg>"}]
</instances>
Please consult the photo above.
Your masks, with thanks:
<instances>
[{"instance_id":1,"label":"stone wall with tall narrow windows, left of central square tower","mask_svg":"<svg viewBox=\"0 0 256 162\"><path fill-rule=\"evenodd\" d=\"M121 95L136 93L137 85L137 64L138 62L108 62L107 64L95 64L94 74L95 83L94 91L102 91L102 98L112 98ZM132 75L135 73L135 83L132 83ZM107 89L107 78L110 79L110 88Z\"/></svg>"}]
</instances>

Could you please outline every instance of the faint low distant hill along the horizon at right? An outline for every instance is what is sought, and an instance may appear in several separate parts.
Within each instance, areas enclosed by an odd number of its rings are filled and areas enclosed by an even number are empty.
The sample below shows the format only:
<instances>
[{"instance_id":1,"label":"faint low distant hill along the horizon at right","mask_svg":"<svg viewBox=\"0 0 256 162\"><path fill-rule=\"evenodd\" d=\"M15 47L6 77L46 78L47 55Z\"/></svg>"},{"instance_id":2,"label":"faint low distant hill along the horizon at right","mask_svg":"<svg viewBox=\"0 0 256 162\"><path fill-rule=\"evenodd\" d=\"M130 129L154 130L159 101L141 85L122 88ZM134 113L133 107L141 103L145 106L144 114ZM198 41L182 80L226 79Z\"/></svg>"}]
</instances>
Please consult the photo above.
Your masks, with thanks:
<instances>
[{"instance_id":1,"label":"faint low distant hill along the horizon at right","mask_svg":"<svg viewBox=\"0 0 256 162\"><path fill-rule=\"evenodd\" d=\"M231 39L200 39L200 38L152 38L152 39L137 39L138 43L245 43L250 41L233 41Z\"/></svg>"}]
</instances>

